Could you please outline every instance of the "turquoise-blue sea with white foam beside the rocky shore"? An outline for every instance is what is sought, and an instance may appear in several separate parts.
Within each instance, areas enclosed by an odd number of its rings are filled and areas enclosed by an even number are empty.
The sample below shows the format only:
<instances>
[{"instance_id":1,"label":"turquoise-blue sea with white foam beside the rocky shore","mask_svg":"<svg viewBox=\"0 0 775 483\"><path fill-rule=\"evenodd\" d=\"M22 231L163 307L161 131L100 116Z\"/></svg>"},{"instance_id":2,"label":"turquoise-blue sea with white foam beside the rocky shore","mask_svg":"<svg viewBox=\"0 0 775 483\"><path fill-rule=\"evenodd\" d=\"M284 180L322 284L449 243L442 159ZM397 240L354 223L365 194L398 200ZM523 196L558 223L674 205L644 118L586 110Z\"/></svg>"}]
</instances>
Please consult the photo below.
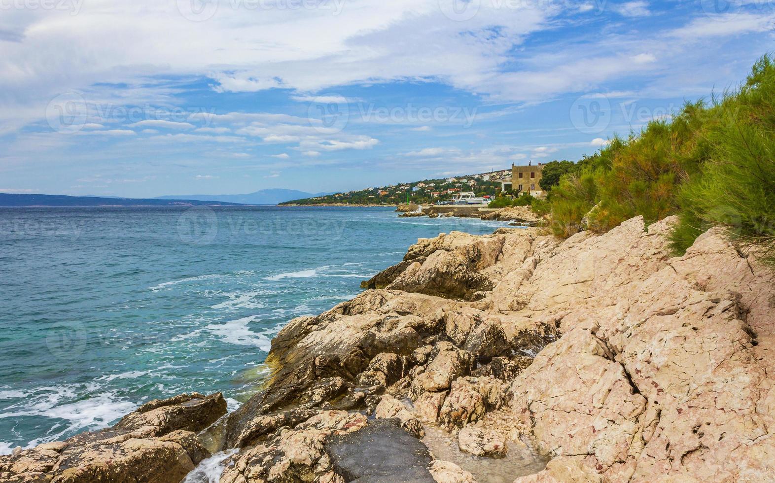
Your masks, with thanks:
<instances>
[{"instance_id":1,"label":"turquoise-blue sea with white foam beside the rocky shore","mask_svg":"<svg viewBox=\"0 0 775 483\"><path fill-rule=\"evenodd\" d=\"M420 237L505 223L392 209L0 209L0 454L152 398L249 397L288 320L330 309Z\"/></svg>"}]
</instances>

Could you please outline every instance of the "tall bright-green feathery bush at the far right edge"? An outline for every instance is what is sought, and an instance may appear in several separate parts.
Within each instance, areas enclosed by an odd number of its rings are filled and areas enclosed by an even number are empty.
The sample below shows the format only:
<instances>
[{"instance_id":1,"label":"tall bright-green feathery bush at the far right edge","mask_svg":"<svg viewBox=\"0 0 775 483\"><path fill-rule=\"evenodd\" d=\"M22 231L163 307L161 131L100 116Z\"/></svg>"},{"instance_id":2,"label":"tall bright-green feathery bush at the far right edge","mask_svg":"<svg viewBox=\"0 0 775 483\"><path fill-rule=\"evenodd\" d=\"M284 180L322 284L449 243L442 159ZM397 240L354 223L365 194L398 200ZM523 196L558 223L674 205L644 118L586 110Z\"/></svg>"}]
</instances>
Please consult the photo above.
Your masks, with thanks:
<instances>
[{"instance_id":1,"label":"tall bright-green feathery bush at the far right edge","mask_svg":"<svg viewBox=\"0 0 775 483\"><path fill-rule=\"evenodd\" d=\"M714 107L709 159L680 190L671 233L683 253L696 236L723 226L733 240L775 264L775 64L763 57L746 84Z\"/></svg>"}]
</instances>

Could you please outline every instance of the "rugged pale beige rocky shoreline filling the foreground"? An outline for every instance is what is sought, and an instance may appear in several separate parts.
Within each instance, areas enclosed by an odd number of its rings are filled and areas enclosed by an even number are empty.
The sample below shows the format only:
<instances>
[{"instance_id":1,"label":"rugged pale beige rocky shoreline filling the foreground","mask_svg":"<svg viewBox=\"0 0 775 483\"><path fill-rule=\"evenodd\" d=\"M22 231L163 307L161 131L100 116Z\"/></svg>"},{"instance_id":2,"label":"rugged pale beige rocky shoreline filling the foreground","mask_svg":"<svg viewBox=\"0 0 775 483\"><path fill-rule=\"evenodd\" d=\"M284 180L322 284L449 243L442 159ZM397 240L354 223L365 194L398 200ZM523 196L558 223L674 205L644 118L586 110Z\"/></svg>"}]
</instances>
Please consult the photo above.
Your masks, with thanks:
<instances>
[{"instance_id":1,"label":"rugged pale beige rocky shoreline filling the foreground","mask_svg":"<svg viewBox=\"0 0 775 483\"><path fill-rule=\"evenodd\" d=\"M177 482L237 450L222 483L501 481L439 459L432 433L483 465L536 455L519 483L773 481L773 274L716 229L671 258L670 223L418 240L288 323L235 412L219 394L150 402L0 457L0 480Z\"/></svg>"}]
</instances>

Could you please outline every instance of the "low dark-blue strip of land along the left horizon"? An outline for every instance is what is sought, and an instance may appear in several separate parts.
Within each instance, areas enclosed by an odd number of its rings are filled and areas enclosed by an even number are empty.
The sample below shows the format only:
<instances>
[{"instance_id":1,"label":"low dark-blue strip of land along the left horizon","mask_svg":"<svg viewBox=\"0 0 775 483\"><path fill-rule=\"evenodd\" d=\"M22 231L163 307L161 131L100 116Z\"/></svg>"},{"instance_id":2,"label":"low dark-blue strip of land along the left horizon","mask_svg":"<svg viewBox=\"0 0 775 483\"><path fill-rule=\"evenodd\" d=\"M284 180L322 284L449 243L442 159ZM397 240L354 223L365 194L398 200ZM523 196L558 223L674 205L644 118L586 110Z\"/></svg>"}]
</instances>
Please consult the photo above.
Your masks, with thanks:
<instances>
[{"instance_id":1,"label":"low dark-blue strip of land along the left horizon","mask_svg":"<svg viewBox=\"0 0 775 483\"><path fill-rule=\"evenodd\" d=\"M0 193L0 206L233 206L236 203L198 199L106 198L99 196L15 195Z\"/></svg>"}]
</instances>

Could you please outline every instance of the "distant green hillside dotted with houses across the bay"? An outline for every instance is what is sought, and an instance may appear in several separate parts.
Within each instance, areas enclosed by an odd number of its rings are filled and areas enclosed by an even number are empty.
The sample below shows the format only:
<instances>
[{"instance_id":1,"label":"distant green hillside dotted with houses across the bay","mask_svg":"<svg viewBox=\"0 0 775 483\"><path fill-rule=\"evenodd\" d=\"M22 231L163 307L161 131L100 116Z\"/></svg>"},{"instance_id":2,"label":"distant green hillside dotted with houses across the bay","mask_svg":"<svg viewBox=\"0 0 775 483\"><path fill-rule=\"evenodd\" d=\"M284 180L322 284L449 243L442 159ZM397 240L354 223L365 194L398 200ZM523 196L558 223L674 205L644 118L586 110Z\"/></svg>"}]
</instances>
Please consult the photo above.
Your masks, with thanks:
<instances>
[{"instance_id":1,"label":"distant green hillside dotted with houses across the bay","mask_svg":"<svg viewBox=\"0 0 775 483\"><path fill-rule=\"evenodd\" d=\"M447 201L455 193L471 191L477 196L495 196L504 183L511 183L512 170L467 174L453 178L425 179L412 183L378 186L358 191L333 193L298 199L281 205L398 205L401 203L435 203ZM510 185L507 185L510 188Z\"/></svg>"}]
</instances>

